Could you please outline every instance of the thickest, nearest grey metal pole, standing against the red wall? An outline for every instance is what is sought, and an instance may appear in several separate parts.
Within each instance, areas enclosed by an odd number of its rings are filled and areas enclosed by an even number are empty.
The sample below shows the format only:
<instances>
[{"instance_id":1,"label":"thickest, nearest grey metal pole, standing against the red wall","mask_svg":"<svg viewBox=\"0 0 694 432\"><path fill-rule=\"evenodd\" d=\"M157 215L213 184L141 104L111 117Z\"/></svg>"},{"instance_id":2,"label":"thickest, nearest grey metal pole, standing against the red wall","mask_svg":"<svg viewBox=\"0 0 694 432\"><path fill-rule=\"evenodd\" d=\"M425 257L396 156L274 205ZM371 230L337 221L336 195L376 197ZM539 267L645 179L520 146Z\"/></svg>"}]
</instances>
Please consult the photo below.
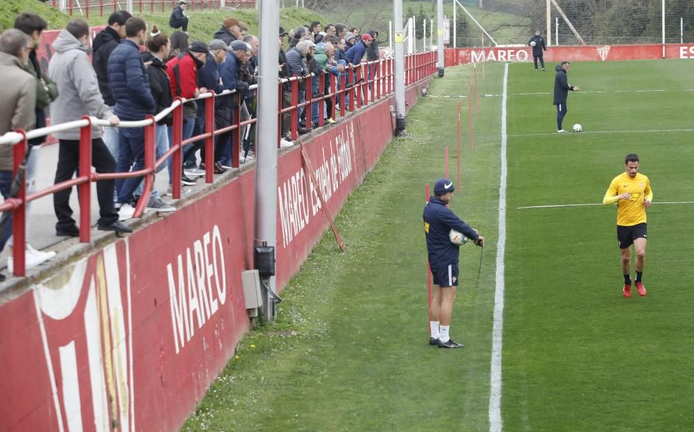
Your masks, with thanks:
<instances>
[{"instance_id":1,"label":"thickest, nearest grey metal pole, standing against the red wall","mask_svg":"<svg viewBox=\"0 0 694 432\"><path fill-rule=\"evenodd\" d=\"M278 128L278 70L280 50L279 0L262 0L260 8L260 80L258 83L257 159L255 163L255 246L277 245L277 128ZM236 151L239 143L236 145ZM257 265L257 263L256 263ZM274 274L274 263L272 263ZM275 276L261 277L262 316L276 318L273 293Z\"/></svg>"}]
</instances>

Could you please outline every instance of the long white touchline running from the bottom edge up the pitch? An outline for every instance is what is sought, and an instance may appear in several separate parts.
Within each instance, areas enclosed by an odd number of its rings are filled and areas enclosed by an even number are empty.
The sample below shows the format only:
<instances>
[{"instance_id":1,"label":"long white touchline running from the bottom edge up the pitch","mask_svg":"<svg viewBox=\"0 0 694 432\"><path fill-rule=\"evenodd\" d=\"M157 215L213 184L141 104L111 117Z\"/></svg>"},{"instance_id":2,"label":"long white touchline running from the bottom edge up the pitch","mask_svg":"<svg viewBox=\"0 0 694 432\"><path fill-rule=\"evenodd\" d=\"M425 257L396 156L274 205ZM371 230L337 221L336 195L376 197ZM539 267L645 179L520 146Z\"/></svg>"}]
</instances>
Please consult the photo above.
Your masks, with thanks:
<instances>
[{"instance_id":1,"label":"long white touchline running from the bottom edge up the pitch","mask_svg":"<svg viewBox=\"0 0 694 432\"><path fill-rule=\"evenodd\" d=\"M496 289L494 292L494 325L491 334L491 372L489 385L489 431L500 432L501 421L501 349L504 329L504 254L506 250L506 103L508 100L509 64L504 67L501 101L501 173L499 180L499 240L496 244Z\"/></svg>"}]
</instances>

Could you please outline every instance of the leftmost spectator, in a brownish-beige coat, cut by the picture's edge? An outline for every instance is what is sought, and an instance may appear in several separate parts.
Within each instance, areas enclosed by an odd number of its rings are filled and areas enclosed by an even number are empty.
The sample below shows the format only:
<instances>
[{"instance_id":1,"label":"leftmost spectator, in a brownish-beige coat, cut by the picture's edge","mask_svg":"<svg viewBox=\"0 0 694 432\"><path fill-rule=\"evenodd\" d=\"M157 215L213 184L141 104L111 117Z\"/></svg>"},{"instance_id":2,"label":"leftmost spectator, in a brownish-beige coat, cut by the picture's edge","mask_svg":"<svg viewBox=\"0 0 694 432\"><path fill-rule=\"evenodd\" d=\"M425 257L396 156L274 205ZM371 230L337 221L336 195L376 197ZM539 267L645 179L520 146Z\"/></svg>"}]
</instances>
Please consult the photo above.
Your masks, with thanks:
<instances>
[{"instance_id":1,"label":"leftmost spectator, in a brownish-beige coat, cut by the picture's edge","mask_svg":"<svg viewBox=\"0 0 694 432\"><path fill-rule=\"evenodd\" d=\"M12 85L0 87L0 135L12 132L15 129L32 130L36 124L36 80L24 70L24 63L28 60L26 45L28 36L19 30L12 29L0 35L0 76ZM21 146L20 144L15 144ZM10 197L12 188L12 169L14 167L13 147L8 144L0 145L0 193L5 199ZM12 235L12 214L0 233L0 251L5 248L5 243ZM37 261L37 262L34 262ZM33 257L30 250L26 251L26 267L46 261L39 257ZM0 274L0 282L5 280L5 275Z\"/></svg>"}]
</instances>

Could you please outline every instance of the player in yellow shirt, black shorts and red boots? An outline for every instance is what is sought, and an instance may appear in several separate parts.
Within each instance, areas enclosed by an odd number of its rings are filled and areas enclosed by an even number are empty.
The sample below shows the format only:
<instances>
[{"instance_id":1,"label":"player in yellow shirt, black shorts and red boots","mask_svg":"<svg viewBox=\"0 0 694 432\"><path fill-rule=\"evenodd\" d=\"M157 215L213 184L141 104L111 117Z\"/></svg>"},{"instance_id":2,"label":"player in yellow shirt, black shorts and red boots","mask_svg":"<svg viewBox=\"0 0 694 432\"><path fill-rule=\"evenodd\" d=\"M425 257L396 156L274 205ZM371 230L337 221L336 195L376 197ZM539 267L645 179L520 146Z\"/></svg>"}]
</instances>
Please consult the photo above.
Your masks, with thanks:
<instances>
[{"instance_id":1,"label":"player in yellow shirt, black shorts and red boots","mask_svg":"<svg viewBox=\"0 0 694 432\"><path fill-rule=\"evenodd\" d=\"M617 203L617 241L622 251L622 273L624 274L624 297L632 296L632 279L629 266L632 260L631 246L636 250L636 291L643 297L641 276L646 260L646 209L653 200L648 177L638 173L638 156L634 153L624 158L625 172L612 180L602 198L604 205Z\"/></svg>"}]
</instances>

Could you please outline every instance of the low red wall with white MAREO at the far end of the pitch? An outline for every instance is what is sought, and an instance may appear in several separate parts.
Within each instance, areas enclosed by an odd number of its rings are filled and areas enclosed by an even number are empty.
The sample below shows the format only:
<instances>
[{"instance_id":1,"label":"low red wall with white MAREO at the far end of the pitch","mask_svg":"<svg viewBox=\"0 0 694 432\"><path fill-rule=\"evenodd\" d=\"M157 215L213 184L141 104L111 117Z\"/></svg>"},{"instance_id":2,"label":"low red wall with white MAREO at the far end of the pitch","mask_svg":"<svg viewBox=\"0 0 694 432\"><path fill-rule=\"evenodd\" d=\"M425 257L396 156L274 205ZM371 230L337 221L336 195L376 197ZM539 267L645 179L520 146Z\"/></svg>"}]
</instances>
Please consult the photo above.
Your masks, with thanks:
<instances>
[{"instance_id":1,"label":"low red wall with white MAREO at the far end of the pitch","mask_svg":"<svg viewBox=\"0 0 694 432\"><path fill-rule=\"evenodd\" d=\"M532 62L530 46L446 49L446 66L477 62ZM661 44L550 46L545 62L657 60L663 58ZM694 44L666 44L665 58L694 58Z\"/></svg>"}]
</instances>

